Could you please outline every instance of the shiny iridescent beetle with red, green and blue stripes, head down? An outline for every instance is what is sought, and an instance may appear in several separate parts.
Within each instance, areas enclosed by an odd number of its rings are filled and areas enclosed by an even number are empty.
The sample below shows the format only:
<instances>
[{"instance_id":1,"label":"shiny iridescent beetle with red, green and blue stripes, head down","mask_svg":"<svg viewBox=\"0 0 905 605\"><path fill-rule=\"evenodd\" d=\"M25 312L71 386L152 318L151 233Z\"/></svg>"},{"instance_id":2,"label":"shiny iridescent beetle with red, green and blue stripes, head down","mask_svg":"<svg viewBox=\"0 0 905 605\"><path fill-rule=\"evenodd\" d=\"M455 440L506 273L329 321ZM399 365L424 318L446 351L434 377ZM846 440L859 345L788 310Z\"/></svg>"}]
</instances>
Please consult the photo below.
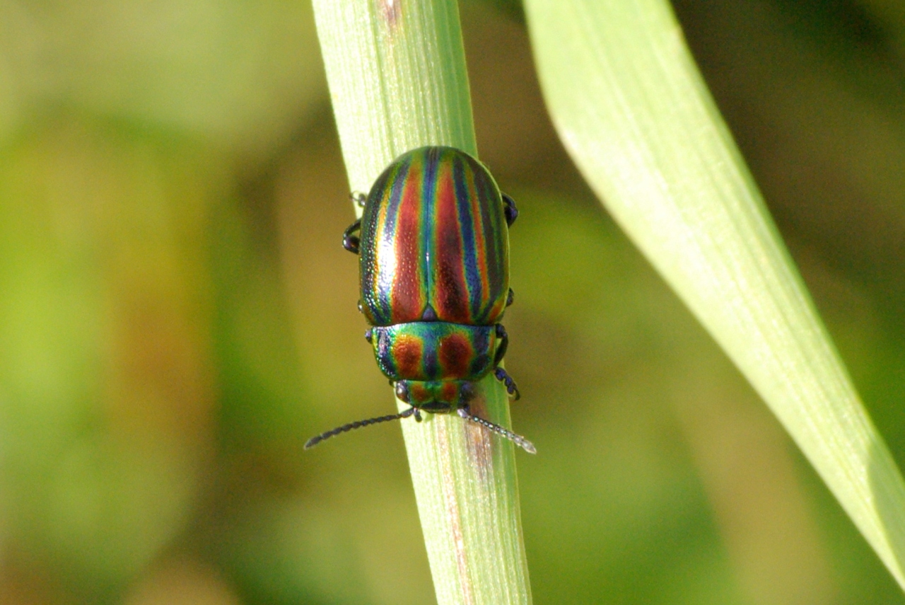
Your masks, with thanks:
<instances>
[{"instance_id":1,"label":"shiny iridescent beetle with red, green and blue stripes, head down","mask_svg":"<svg viewBox=\"0 0 905 605\"><path fill-rule=\"evenodd\" d=\"M346 229L343 245L360 254L359 309L373 326L365 338L396 397L412 407L334 428L305 448L353 428L454 410L533 454L525 437L469 408L473 383L491 371L519 399L500 368L509 337L499 323L512 303L515 202L500 194L481 162L451 147L408 151L356 200L364 212Z\"/></svg>"}]
</instances>

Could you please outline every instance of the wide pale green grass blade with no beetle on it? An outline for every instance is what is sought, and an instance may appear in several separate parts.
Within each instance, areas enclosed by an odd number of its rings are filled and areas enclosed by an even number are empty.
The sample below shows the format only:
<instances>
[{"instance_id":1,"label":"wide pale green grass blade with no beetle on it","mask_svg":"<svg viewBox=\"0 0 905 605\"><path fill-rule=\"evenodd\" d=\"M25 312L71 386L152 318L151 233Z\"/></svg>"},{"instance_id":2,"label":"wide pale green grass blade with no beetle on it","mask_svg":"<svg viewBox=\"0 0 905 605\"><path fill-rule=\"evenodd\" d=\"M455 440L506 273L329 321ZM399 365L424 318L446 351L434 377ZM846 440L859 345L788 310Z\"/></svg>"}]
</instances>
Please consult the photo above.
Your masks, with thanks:
<instances>
[{"instance_id":1,"label":"wide pale green grass blade with no beetle on it","mask_svg":"<svg viewBox=\"0 0 905 605\"><path fill-rule=\"evenodd\" d=\"M900 585L905 485L663 0L525 0L587 181L767 401Z\"/></svg>"}]
</instances>

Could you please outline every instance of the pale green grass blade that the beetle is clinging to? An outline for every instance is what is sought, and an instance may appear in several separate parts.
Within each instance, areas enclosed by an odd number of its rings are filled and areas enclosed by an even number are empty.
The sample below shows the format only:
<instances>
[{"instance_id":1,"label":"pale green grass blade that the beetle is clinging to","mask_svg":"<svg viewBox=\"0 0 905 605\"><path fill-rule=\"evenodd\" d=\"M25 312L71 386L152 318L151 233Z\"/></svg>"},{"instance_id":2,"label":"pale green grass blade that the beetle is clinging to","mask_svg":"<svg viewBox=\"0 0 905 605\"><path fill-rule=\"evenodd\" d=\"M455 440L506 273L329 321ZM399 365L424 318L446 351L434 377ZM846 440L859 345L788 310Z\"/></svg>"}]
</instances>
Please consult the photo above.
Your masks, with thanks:
<instances>
[{"instance_id":1,"label":"pale green grass blade that the beetle is clinging to","mask_svg":"<svg viewBox=\"0 0 905 605\"><path fill-rule=\"evenodd\" d=\"M476 155L454 0L315 0L314 9L353 191L367 192L408 149ZM472 409L509 426L505 389L489 377L480 390L485 405ZM437 601L531 602L512 444L454 415L402 426Z\"/></svg>"}]
</instances>

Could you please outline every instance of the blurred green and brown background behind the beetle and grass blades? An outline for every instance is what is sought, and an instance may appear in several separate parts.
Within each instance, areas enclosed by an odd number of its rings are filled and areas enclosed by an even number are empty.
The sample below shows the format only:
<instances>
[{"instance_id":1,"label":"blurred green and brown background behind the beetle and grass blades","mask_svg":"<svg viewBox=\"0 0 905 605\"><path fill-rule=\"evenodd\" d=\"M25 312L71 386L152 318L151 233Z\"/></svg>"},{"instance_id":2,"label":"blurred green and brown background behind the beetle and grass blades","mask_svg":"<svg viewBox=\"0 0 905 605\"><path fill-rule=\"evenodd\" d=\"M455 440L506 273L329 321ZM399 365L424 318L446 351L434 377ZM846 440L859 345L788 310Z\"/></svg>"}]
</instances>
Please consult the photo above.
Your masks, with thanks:
<instances>
[{"instance_id":1,"label":"blurred green and brown background behind the beetle and grass blades","mask_svg":"<svg viewBox=\"0 0 905 605\"><path fill-rule=\"evenodd\" d=\"M678 0L905 464L905 5ZM537 603L905 603L462 6ZM0 603L432 603L305 0L0 0Z\"/></svg>"}]
</instances>

